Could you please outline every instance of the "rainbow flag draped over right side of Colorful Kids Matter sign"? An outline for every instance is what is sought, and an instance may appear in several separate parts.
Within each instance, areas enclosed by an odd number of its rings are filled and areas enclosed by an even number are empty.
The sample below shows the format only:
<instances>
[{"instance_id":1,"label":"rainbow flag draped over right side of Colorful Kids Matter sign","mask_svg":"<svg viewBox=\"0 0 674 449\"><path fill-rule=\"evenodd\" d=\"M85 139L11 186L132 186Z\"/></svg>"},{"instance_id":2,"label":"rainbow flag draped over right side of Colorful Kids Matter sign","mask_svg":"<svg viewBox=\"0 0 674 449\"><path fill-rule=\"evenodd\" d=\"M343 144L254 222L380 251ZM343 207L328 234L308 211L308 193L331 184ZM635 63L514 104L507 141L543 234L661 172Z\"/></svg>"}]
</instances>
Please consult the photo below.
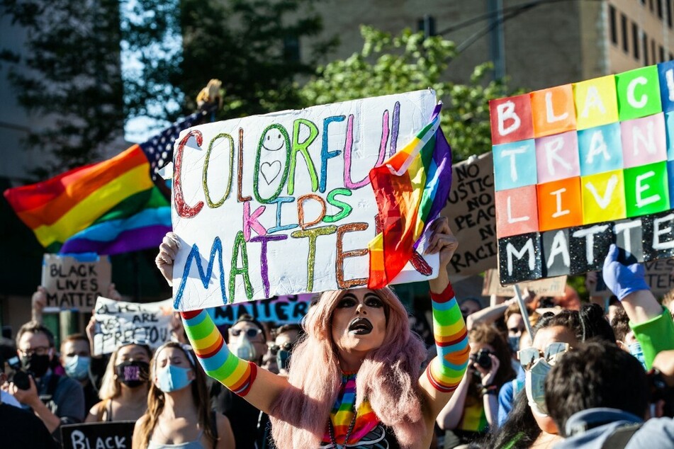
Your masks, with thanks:
<instances>
[{"instance_id":1,"label":"rainbow flag draped over right side of Colorful Kids Matter sign","mask_svg":"<svg viewBox=\"0 0 674 449\"><path fill-rule=\"evenodd\" d=\"M442 103L410 143L370 171L382 224L369 244L368 288L391 283L422 234L444 208L451 186L451 148L440 129Z\"/></svg>"}]
</instances>

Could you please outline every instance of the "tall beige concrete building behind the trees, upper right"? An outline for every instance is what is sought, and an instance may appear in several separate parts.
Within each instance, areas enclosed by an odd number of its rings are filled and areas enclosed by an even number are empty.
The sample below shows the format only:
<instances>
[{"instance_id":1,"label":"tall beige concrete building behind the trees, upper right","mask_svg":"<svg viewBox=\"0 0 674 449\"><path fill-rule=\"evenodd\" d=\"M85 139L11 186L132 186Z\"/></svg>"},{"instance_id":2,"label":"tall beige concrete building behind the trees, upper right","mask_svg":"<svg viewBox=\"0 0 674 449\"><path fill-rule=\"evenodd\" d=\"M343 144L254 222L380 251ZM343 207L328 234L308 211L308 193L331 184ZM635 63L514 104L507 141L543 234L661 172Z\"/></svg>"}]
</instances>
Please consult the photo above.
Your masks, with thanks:
<instances>
[{"instance_id":1,"label":"tall beige concrete building behind the trees, upper right","mask_svg":"<svg viewBox=\"0 0 674 449\"><path fill-rule=\"evenodd\" d=\"M396 34L426 17L459 49L452 81L493 61L511 86L534 90L674 59L671 0L331 0L321 8L325 35L341 43L330 58L362 48L361 23Z\"/></svg>"}]
</instances>

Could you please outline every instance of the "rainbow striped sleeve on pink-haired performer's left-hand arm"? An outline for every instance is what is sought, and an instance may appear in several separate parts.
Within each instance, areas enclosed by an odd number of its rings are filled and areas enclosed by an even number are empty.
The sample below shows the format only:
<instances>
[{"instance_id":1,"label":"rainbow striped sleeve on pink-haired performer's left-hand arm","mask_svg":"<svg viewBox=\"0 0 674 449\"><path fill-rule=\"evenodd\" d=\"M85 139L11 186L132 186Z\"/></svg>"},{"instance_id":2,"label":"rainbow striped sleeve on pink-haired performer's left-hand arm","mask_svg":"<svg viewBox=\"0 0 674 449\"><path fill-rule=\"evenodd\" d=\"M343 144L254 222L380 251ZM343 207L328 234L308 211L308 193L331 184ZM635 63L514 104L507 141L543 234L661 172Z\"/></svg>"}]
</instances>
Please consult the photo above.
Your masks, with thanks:
<instances>
[{"instance_id":1,"label":"rainbow striped sleeve on pink-haired performer's left-hand arm","mask_svg":"<svg viewBox=\"0 0 674 449\"><path fill-rule=\"evenodd\" d=\"M248 394L257 376L257 365L230 352L223 334L206 310L180 312L180 315L187 338L206 374L239 396Z\"/></svg>"}]
</instances>

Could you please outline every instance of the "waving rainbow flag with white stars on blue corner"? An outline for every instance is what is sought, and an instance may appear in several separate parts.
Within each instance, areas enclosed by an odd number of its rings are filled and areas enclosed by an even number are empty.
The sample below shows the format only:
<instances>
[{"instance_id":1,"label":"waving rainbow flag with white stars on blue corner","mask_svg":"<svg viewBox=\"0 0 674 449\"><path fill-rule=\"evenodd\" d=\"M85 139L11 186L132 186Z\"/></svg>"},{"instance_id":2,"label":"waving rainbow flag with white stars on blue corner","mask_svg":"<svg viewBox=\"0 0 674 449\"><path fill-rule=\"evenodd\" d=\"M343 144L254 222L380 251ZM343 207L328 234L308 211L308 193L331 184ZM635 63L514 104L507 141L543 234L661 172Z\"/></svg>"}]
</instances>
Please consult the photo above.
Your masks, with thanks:
<instances>
[{"instance_id":1,"label":"waving rainbow flag with white stars on blue corner","mask_svg":"<svg viewBox=\"0 0 674 449\"><path fill-rule=\"evenodd\" d=\"M208 110L183 118L152 139L107 161L72 169L5 198L47 252L120 254L152 248L172 229L171 204L159 191L157 169L173 144Z\"/></svg>"}]
</instances>

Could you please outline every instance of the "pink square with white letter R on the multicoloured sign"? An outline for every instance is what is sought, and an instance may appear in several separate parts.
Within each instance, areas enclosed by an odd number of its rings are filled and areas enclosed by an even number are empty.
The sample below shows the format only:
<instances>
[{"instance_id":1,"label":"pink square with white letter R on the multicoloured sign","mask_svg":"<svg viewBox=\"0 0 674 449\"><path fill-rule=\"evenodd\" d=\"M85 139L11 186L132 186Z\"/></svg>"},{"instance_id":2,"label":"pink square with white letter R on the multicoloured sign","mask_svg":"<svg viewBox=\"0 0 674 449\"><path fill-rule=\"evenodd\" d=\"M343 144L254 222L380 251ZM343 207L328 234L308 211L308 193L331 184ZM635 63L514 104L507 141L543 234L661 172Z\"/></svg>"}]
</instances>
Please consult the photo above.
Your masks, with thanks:
<instances>
[{"instance_id":1,"label":"pink square with white letter R on the multicoloured sign","mask_svg":"<svg viewBox=\"0 0 674 449\"><path fill-rule=\"evenodd\" d=\"M540 184L580 176L576 132L536 139L536 170Z\"/></svg>"}]
</instances>

